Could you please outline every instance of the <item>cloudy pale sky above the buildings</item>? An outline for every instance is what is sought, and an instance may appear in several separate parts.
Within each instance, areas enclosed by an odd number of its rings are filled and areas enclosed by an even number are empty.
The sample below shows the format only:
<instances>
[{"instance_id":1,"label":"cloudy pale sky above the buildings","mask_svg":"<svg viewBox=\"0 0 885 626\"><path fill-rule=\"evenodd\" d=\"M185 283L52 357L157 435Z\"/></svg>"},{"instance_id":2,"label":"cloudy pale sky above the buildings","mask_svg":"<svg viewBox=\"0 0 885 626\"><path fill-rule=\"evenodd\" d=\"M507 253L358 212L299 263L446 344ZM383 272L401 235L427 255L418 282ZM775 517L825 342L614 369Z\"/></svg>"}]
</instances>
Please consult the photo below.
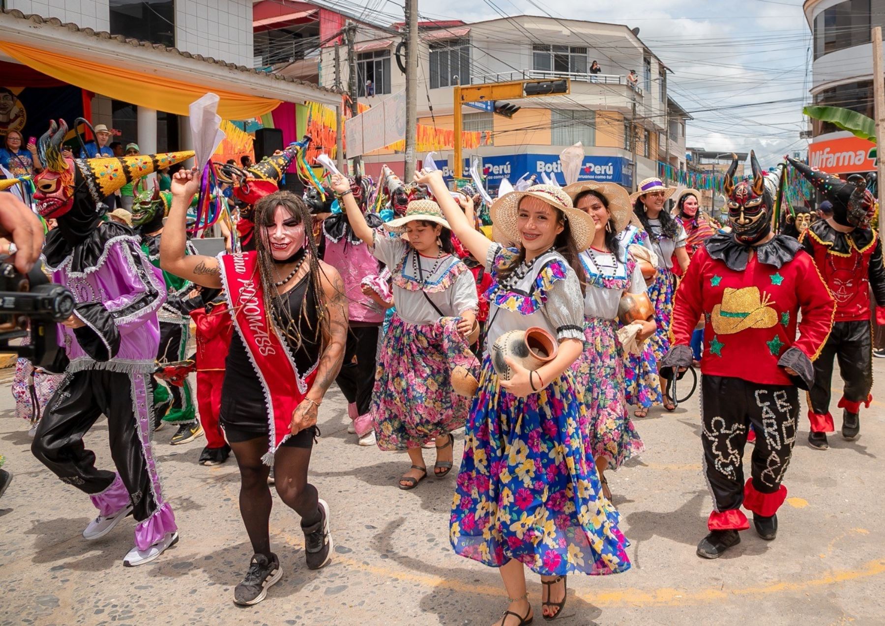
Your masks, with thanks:
<instances>
[{"instance_id":1,"label":"cloudy pale sky above the buildings","mask_svg":"<svg viewBox=\"0 0 885 626\"><path fill-rule=\"evenodd\" d=\"M393 0L367 0L396 14ZM397 3L398 4L398 3ZM422 19L477 21L506 15L589 19L639 27L640 38L673 70L669 95L694 116L688 145L756 149L763 167L804 150L811 32L801 0L419 0ZM539 8L540 7L540 8ZM500 11L500 12L499 12ZM808 70L806 72L806 70ZM753 103L770 104L746 106ZM786 101L786 102L783 102ZM727 107L727 108L724 108Z\"/></svg>"}]
</instances>

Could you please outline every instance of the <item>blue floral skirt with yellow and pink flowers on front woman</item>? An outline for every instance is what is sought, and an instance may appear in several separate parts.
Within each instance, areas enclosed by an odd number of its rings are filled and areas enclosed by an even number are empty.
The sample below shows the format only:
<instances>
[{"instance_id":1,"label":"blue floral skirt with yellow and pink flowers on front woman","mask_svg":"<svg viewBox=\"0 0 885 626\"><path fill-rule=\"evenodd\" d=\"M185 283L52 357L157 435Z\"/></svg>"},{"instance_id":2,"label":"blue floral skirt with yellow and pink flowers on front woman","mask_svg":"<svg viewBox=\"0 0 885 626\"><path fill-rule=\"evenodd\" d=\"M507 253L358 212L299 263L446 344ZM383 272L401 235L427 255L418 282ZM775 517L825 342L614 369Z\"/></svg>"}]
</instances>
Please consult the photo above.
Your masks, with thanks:
<instances>
[{"instance_id":1,"label":"blue floral skirt with yellow and pink flowers on front woman","mask_svg":"<svg viewBox=\"0 0 885 626\"><path fill-rule=\"evenodd\" d=\"M456 553L495 568L517 559L542 576L630 568L620 515L584 454L585 411L569 373L518 398L486 357L452 501Z\"/></svg>"}]
</instances>

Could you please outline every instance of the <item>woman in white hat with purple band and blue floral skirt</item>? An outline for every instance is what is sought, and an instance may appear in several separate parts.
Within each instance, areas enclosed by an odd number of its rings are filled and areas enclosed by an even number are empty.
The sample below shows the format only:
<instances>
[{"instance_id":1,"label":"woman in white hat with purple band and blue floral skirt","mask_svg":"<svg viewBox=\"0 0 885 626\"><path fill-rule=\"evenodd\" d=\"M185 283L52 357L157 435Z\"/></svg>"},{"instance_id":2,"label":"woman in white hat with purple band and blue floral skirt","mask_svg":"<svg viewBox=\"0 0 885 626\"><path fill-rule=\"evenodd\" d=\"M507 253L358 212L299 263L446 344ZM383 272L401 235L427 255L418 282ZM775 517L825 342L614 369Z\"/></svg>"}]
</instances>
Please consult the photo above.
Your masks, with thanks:
<instances>
[{"instance_id":1,"label":"woman in white hat with purple band and blue floral skirt","mask_svg":"<svg viewBox=\"0 0 885 626\"><path fill-rule=\"evenodd\" d=\"M689 267L689 255L685 251L687 235L685 228L666 210L664 204L673 195L676 187L666 187L661 179L644 179L639 183L639 191L630 195L633 210L648 234L648 247L658 256L658 274L649 286L649 298L655 307L655 321L658 331L651 336L651 349L655 359L660 361L670 349L670 317L673 315L673 292L676 290L676 278L673 275L673 256L682 271ZM664 381L660 380L661 389L665 389ZM673 411L676 408L673 398L664 393L664 408Z\"/></svg>"}]
</instances>

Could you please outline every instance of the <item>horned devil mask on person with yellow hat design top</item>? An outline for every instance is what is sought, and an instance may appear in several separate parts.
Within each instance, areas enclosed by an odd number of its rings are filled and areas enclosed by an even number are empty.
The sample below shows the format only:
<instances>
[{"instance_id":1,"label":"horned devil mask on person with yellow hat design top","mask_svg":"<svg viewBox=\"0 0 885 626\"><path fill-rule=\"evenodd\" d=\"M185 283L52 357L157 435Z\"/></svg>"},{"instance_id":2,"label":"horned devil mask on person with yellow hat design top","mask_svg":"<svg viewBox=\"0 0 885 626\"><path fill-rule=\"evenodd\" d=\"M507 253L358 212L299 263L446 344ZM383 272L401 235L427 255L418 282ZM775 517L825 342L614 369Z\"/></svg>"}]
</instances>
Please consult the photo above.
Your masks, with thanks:
<instances>
[{"instance_id":1,"label":"horned devil mask on person with yellow hat design top","mask_svg":"<svg viewBox=\"0 0 885 626\"><path fill-rule=\"evenodd\" d=\"M735 240L743 245L751 246L765 239L771 231L773 198L766 190L765 177L756 153L750 151L750 166L753 171L752 182L742 180L735 185L737 156L725 174L725 194L727 196L728 223Z\"/></svg>"}]
</instances>

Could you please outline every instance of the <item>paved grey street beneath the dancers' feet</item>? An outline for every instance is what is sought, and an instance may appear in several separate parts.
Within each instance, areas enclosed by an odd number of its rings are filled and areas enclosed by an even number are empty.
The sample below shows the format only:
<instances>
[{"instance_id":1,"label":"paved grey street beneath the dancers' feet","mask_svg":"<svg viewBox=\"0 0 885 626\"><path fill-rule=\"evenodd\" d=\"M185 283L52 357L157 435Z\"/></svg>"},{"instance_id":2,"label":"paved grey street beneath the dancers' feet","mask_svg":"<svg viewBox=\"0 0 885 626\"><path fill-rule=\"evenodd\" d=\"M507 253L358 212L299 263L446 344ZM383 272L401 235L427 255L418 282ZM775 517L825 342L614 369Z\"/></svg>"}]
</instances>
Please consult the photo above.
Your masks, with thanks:
<instances>
[{"instance_id":1,"label":"paved grey street beneath the dancers' feet","mask_svg":"<svg viewBox=\"0 0 885 626\"><path fill-rule=\"evenodd\" d=\"M860 439L831 436L829 451L812 450L803 406L780 536L766 543L746 531L718 561L695 555L711 508L700 473L697 394L673 415L655 409L638 420L648 451L609 478L633 569L569 576L559 623L881 623L885 362L874 361L873 395L881 400L863 413ZM8 382L0 399L0 452L15 474L0 500L0 624L490 624L506 605L494 569L451 551L454 473L411 492L396 489L406 455L358 447L336 388L320 412L323 437L312 461L312 483L332 508L334 559L318 572L306 569L298 517L274 493L271 538L284 576L248 608L232 601L251 556L233 458L201 467L204 439L172 447L171 429L158 432L164 492L181 541L158 561L124 568L134 522L84 541L96 509L32 457L27 425L12 416ZM106 437L99 423L87 443L110 469ZM459 439L456 470L461 447ZM426 458L432 464L433 451ZM537 623L537 576L529 593Z\"/></svg>"}]
</instances>

